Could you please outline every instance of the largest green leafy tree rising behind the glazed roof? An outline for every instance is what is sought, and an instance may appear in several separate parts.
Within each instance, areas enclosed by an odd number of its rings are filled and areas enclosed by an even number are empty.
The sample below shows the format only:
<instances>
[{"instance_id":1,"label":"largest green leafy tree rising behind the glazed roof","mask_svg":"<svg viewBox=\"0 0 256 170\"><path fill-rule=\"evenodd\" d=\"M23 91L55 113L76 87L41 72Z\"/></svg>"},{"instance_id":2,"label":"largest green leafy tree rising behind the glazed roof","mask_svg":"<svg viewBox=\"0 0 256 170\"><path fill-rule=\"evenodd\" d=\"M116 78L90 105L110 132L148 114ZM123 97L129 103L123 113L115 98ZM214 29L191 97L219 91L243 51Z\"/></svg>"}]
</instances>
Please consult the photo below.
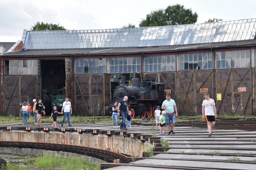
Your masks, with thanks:
<instances>
[{"instance_id":1,"label":"largest green leafy tree rising behind the glazed roof","mask_svg":"<svg viewBox=\"0 0 256 170\"><path fill-rule=\"evenodd\" d=\"M140 27L191 24L197 22L197 17L191 8L186 9L180 4L169 5L165 10L158 9L147 14L146 19L141 20Z\"/></svg>"}]
</instances>

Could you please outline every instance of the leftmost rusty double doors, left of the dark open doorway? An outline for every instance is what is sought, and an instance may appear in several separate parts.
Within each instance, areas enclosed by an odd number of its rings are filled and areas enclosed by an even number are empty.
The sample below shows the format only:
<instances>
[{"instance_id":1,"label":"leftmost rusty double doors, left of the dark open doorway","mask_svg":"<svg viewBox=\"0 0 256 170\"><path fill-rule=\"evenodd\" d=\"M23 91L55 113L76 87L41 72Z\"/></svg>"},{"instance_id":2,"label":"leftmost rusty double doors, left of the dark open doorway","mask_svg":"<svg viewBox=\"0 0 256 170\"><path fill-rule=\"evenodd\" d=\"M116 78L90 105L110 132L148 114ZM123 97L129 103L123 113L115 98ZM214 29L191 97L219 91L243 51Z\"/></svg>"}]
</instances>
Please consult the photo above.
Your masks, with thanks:
<instances>
[{"instance_id":1,"label":"leftmost rusty double doors, left of the dark open doorway","mask_svg":"<svg viewBox=\"0 0 256 170\"><path fill-rule=\"evenodd\" d=\"M36 76L4 76L3 77L4 115L18 116L21 103L32 100L36 96Z\"/></svg>"}]
</instances>

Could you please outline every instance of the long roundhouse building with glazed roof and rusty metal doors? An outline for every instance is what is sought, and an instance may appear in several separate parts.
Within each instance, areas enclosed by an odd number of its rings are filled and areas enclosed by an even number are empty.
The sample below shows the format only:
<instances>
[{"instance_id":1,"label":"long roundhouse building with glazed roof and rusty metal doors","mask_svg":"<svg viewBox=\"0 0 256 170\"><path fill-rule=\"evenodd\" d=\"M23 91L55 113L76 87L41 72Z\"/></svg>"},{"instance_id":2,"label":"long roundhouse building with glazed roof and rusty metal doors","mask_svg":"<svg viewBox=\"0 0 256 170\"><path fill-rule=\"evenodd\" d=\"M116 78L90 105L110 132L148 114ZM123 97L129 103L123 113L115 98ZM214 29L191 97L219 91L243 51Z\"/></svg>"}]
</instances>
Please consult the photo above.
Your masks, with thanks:
<instances>
[{"instance_id":1,"label":"long roundhouse building with glazed roof and rusty metal doors","mask_svg":"<svg viewBox=\"0 0 256 170\"><path fill-rule=\"evenodd\" d=\"M113 91L132 78L170 89L183 115L202 113L204 92L217 114L255 113L256 19L160 27L27 31L24 50L1 55L2 115L22 101L65 87L75 115L108 115ZM50 110L50 109L49 109Z\"/></svg>"}]
</instances>

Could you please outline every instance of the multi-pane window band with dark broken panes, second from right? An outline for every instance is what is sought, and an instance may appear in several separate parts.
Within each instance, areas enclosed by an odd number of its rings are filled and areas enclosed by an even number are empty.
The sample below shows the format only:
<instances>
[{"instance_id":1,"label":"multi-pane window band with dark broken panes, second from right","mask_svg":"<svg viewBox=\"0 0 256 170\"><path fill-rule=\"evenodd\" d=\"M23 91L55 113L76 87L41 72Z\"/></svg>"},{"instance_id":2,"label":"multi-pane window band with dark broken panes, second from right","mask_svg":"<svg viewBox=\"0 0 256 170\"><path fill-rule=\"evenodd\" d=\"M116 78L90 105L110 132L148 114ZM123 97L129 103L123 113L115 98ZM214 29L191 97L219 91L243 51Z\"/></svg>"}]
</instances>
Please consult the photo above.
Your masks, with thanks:
<instances>
[{"instance_id":1,"label":"multi-pane window band with dark broken panes, second from right","mask_svg":"<svg viewBox=\"0 0 256 170\"><path fill-rule=\"evenodd\" d=\"M194 53L179 55L180 70L212 69L212 53Z\"/></svg>"}]
</instances>

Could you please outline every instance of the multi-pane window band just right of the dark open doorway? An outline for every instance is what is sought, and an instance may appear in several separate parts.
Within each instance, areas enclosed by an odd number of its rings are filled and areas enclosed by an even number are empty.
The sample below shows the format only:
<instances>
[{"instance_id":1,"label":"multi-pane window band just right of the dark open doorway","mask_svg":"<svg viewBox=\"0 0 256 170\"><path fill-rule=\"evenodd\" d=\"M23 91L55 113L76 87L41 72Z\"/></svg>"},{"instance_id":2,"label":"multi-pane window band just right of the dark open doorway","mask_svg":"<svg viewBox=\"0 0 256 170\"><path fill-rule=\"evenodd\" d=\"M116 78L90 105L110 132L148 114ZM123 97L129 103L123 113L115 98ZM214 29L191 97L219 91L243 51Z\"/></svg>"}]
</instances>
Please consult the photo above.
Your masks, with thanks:
<instances>
[{"instance_id":1,"label":"multi-pane window band just right of the dark open doorway","mask_svg":"<svg viewBox=\"0 0 256 170\"><path fill-rule=\"evenodd\" d=\"M107 73L107 58L75 59L75 74Z\"/></svg>"}]
</instances>

